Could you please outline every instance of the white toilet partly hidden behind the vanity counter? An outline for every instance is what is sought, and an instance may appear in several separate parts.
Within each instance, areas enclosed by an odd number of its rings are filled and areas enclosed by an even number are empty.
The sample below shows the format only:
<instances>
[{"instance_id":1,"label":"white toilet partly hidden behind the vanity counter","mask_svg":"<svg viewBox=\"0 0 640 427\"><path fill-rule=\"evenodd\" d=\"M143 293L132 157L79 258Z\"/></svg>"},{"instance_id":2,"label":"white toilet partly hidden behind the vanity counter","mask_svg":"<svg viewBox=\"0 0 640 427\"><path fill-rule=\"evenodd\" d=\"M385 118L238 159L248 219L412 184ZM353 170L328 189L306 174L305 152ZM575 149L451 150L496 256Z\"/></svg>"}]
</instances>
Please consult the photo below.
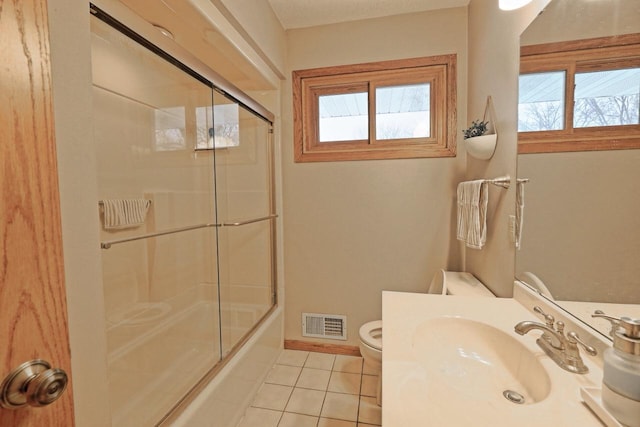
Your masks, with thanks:
<instances>
[{"instance_id":1,"label":"white toilet partly hidden behind the vanity counter","mask_svg":"<svg viewBox=\"0 0 640 427\"><path fill-rule=\"evenodd\" d=\"M427 289L428 294L493 297L471 273L439 270ZM367 322L360 327L360 354L365 364L378 374L376 402L382 404L382 320Z\"/></svg>"}]
</instances>

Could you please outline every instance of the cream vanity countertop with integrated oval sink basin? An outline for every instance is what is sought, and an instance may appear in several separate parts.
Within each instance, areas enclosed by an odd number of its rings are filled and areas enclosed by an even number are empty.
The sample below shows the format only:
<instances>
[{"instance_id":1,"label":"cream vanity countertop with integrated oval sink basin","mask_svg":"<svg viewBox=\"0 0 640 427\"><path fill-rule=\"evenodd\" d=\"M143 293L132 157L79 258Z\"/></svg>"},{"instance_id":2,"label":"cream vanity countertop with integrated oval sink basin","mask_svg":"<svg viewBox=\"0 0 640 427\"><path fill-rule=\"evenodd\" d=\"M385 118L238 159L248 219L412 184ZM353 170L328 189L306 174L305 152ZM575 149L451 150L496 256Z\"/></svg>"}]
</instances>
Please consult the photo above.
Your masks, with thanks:
<instances>
[{"instance_id":1,"label":"cream vanity countertop with integrated oval sink basin","mask_svg":"<svg viewBox=\"0 0 640 427\"><path fill-rule=\"evenodd\" d=\"M382 425L602 427L580 396L600 386L601 368L583 355L590 372L572 374L537 346L540 331L516 334L518 322L539 320L529 310L507 298L383 292Z\"/></svg>"}]
</instances>

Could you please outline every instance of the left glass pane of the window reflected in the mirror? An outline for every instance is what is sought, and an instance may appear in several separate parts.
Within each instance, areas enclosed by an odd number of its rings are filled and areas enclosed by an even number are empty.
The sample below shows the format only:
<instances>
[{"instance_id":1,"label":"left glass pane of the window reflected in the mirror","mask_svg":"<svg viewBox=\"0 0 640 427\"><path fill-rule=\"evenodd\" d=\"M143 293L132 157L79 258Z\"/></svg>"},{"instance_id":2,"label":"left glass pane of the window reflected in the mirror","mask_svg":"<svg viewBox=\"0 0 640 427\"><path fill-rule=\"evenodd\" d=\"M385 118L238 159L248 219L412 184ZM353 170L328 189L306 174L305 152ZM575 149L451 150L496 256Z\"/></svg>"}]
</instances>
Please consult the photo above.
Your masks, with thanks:
<instances>
[{"instance_id":1,"label":"left glass pane of the window reflected in the mirror","mask_svg":"<svg viewBox=\"0 0 640 427\"><path fill-rule=\"evenodd\" d=\"M518 132L564 129L565 72L521 74Z\"/></svg>"}]
</instances>

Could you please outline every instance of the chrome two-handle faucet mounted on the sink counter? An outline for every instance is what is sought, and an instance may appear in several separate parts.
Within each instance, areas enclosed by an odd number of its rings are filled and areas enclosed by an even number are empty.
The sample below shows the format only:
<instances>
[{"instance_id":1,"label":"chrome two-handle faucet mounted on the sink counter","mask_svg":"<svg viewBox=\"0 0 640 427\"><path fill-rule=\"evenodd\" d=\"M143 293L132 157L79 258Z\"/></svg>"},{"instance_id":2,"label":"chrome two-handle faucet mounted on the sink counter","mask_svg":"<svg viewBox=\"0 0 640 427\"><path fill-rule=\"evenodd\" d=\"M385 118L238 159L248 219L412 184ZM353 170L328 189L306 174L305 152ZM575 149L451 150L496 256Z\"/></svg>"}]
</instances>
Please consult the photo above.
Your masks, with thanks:
<instances>
[{"instance_id":1,"label":"chrome two-handle faucet mounted on the sink counter","mask_svg":"<svg viewBox=\"0 0 640 427\"><path fill-rule=\"evenodd\" d=\"M592 356L598 354L597 350L582 341L575 332L569 332L565 335L564 323L556 322L553 316L544 313L540 307L534 307L534 311L544 317L546 325L525 320L515 326L516 333L525 335L534 329L542 331L542 335L536 340L536 343L551 360L562 369L575 374L589 372L589 368L580 357L578 344Z\"/></svg>"}]
</instances>

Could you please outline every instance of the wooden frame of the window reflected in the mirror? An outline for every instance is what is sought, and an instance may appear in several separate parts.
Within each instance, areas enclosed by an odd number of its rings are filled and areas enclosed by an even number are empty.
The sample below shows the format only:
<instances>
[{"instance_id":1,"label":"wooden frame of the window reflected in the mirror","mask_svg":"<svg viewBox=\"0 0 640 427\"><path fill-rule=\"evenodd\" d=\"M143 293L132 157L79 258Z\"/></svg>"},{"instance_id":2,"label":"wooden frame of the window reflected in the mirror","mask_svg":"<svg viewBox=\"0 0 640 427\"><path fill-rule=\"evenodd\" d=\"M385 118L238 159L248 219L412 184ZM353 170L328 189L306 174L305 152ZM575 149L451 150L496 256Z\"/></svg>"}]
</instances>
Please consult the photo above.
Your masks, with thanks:
<instances>
[{"instance_id":1,"label":"wooden frame of the window reflected in the mirror","mask_svg":"<svg viewBox=\"0 0 640 427\"><path fill-rule=\"evenodd\" d=\"M575 75L640 66L640 34L523 46L520 74L566 72L564 129L518 132L518 153L640 148L640 125L573 127Z\"/></svg>"}]
</instances>

